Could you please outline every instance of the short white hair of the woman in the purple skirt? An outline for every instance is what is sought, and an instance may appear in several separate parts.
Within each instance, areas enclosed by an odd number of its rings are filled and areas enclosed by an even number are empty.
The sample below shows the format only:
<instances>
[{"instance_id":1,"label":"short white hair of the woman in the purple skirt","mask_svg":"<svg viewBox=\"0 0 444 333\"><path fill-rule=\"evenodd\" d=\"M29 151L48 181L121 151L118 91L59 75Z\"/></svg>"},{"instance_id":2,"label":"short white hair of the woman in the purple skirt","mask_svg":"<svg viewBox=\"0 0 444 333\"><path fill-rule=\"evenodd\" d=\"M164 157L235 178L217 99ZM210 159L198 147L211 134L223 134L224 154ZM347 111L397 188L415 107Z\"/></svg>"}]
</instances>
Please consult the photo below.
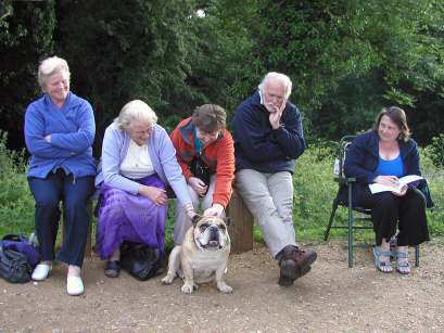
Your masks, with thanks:
<instances>
[{"instance_id":1,"label":"short white hair of the woman in the purple skirt","mask_svg":"<svg viewBox=\"0 0 444 333\"><path fill-rule=\"evenodd\" d=\"M114 119L117 124L117 128L120 130L128 130L134 121L148 121L151 127L154 128L157 123L157 115L155 112L143 101L134 100L122 107L118 117Z\"/></svg>"}]
</instances>

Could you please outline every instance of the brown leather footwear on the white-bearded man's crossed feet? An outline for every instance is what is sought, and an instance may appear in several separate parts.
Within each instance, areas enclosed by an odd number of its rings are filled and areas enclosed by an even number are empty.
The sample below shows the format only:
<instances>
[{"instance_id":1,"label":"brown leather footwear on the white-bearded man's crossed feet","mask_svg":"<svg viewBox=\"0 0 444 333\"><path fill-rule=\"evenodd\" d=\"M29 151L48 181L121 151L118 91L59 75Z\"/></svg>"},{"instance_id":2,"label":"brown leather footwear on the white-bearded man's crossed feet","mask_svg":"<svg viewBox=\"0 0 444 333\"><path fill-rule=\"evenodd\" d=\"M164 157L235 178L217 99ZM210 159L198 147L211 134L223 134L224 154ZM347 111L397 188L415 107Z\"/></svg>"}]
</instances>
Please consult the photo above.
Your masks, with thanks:
<instances>
[{"instance_id":1,"label":"brown leather footwear on the white-bearded man's crossed feet","mask_svg":"<svg viewBox=\"0 0 444 333\"><path fill-rule=\"evenodd\" d=\"M310 270L310 265L317 258L313 249L301 249L294 245L287 245L280 253L279 266L281 285L289 285L288 280L295 280ZM291 285L291 284L290 284Z\"/></svg>"}]
</instances>

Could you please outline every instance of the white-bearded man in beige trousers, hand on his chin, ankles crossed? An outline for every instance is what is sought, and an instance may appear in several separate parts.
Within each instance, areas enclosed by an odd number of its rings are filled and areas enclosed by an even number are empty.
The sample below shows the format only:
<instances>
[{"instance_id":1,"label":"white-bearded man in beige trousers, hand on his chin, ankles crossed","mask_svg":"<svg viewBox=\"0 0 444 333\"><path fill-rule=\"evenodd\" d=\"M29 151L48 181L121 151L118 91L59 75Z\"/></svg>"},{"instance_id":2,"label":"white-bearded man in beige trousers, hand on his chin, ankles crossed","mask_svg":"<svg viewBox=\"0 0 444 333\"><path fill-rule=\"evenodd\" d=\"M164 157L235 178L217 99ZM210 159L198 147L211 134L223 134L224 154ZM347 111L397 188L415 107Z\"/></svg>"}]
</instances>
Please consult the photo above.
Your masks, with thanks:
<instances>
[{"instance_id":1,"label":"white-bearded man in beige trousers, hand on his chin, ankles crossed","mask_svg":"<svg viewBox=\"0 0 444 333\"><path fill-rule=\"evenodd\" d=\"M236 189L279 261L279 284L284 286L306 274L317 257L295 241L292 175L306 143L301 114L288 100L291 88L287 75L268 73L233 118Z\"/></svg>"}]
</instances>

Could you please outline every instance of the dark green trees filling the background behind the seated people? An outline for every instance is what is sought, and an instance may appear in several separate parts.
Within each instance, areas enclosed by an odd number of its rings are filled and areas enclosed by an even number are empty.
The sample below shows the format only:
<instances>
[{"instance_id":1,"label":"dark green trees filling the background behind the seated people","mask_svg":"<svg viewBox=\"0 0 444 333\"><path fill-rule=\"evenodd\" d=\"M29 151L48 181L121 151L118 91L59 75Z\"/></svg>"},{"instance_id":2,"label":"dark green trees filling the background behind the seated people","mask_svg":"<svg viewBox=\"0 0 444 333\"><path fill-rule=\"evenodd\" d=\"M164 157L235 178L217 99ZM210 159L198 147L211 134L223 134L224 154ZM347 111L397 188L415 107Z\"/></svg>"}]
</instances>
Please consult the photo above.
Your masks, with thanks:
<instances>
[{"instance_id":1,"label":"dark green trees filling the background behind the seated people","mask_svg":"<svg viewBox=\"0 0 444 333\"><path fill-rule=\"evenodd\" d=\"M38 61L55 50L96 111L96 153L131 99L172 128L203 103L230 119L269 71L292 78L307 137L367 129L395 104L426 144L444 126L443 27L436 0L3 1L1 128L24 145Z\"/></svg>"}]
</instances>

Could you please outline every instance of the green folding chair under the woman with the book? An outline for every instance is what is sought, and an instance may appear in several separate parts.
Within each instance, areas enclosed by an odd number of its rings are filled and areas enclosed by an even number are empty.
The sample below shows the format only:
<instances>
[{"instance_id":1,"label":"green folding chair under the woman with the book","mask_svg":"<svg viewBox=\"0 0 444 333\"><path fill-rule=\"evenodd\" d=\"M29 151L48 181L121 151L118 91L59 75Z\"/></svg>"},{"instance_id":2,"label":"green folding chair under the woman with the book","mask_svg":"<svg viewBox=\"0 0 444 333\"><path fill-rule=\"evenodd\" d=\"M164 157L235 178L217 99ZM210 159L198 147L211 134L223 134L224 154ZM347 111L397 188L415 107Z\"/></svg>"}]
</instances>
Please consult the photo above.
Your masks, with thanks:
<instances>
[{"instance_id":1,"label":"green folding chair under the woman with the book","mask_svg":"<svg viewBox=\"0 0 444 333\"><path fill-rule=\"evenodd\" d=\"M330 214L330 219L326 229L324 240L327 241L331 229L347 229L348 230L348 267L353 267L354 260L354 231L356 229L373 229L371 222L371 209L352 205L353 185L356 183L356 178L346 177L344 175L344 161L347 149L356 136L345 136L338 144L337 158L334 161L334 181L338 182L338 192L333 200L333 205ZM347 189L347 201L344 202L340 197L343 188ZM339 206L348 209L348 223L334 225L334 216ZM360 213L359 216L354 216L354 212ZM395 246L396 238L391 240L391 246ZM415 266L419 266L419 245L415 246Z\"/></svg>"}]
</instances>

